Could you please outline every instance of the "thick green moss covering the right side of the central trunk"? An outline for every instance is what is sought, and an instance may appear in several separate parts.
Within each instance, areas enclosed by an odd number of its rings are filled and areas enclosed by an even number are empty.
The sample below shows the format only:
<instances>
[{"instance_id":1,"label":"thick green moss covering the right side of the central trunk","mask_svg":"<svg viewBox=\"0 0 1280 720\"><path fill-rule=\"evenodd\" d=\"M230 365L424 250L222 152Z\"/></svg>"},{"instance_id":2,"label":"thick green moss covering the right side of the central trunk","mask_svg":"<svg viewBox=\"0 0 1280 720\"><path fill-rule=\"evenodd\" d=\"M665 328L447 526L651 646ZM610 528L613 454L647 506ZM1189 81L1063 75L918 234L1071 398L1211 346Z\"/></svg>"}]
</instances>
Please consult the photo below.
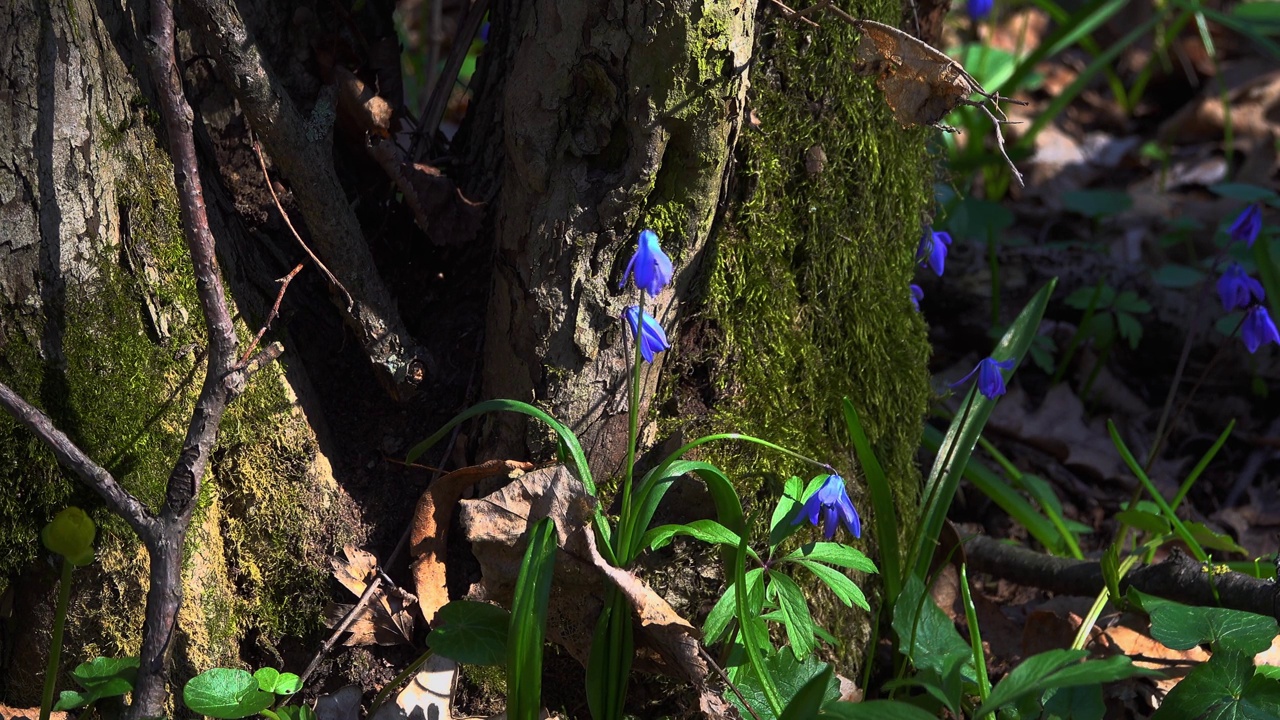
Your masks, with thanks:
<instances>
[{"instance_id":1,"label":"thick green moss covering the right side of the central trunk","mask_svg":"<svg viewBox=\"0 0 1280 720\"><path fill-rule=\"evenodd\" d=\"M850 12L884 18L897 9L876 3ZM852 74L858 33L846 23L827 17L814 29L776 22L759 32L750 105L762 126L744 131L749 190L719 236L708 292L708 315L728 356L716 382L731 400L708 429L755 434L829 461L850 480L870 527L840 410L849 396L897 483L902 527L910 527L929 347L908 284L929 208L932 131L900 128L872 82ZM815 145L827 161L810 174L805 158ZM815 473L750 450L714 452L739 473ZM854 641L860 633L844 618L828 626Z\"/></svg>"}]
</instances>

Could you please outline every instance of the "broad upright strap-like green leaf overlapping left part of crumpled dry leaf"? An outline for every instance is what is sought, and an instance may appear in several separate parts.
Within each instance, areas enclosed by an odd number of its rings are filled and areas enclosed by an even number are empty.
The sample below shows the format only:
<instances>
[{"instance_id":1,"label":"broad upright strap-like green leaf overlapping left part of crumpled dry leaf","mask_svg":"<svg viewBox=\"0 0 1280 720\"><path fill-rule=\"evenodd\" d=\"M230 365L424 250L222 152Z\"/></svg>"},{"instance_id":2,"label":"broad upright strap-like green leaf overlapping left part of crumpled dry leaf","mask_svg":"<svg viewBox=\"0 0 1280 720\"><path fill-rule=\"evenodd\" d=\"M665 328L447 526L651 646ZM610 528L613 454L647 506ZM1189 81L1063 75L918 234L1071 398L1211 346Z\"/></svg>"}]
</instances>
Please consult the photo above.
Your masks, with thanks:
<instances>
[{"instance_id":1,"label":"broad upright strap-like green leaf overlapping left part of crumpled dry leaf","mask_svg":"<svg viewBox=\"0 0 1280 720\"><path fill-rule=\"evenodd\" d=\"M507 716L536 720L543 703L543 635L552 575L556 571L556 521L543 518L529 530L507 630Z\"/></svg>"}]
</instances>

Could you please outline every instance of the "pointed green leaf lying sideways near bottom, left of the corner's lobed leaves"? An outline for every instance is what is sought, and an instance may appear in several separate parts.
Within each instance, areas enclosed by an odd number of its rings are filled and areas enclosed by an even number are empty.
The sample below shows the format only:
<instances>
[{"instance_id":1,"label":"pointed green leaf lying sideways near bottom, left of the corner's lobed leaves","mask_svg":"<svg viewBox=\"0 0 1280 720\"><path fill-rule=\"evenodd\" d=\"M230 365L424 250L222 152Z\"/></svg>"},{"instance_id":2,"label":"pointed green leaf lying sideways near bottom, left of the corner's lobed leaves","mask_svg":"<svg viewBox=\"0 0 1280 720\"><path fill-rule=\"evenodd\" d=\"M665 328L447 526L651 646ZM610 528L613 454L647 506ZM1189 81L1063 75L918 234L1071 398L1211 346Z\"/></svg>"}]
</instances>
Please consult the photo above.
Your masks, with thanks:
<instances>
[{"instance_id":1,"label":"pointed green leaf lying sideways near bottom, left of the corner's lobed leaves","mask_svg":"<svg viewBox=\"0 0 1280 720\"><path fill-rule=\"evenodd\" d=\"M974 716L980 717L986 712L995 712L1000 706L1015 703L1029 694L1039 697L1041 693L1051 688L1100 685L1134 675L1155 674L1135 666L1132 660L1123 656L1080 662L1088 655L1087 650L1060 648L1028 657L991 689L987 702L983 702L974 711Z\"/></svg>"}]
</instances>

